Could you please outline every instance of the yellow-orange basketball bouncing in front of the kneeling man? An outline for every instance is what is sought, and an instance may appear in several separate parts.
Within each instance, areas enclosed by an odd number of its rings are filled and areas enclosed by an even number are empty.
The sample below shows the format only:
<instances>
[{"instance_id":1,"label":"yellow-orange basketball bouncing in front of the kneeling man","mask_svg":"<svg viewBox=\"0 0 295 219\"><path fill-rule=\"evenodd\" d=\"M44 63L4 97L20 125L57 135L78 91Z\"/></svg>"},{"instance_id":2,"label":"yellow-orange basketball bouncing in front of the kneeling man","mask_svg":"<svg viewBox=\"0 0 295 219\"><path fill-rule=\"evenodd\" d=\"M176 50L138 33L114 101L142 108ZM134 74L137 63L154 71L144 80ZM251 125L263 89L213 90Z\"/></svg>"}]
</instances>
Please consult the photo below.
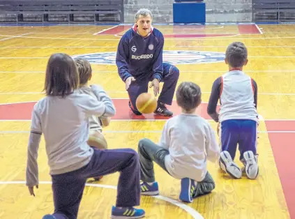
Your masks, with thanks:
<instances>
[{"instance_id":1,"label":"yellow-orange basketball bouncing in front of the kneeling man","mask_svg":"<svg viewBox=\"0 0 295 219\"><path fill-rule=\"evenodd\" d=\"M149 114L156 110L157 100L151 93L141 93L136 99L137 110L143 114Z\"/></svg>"}]
</instances>

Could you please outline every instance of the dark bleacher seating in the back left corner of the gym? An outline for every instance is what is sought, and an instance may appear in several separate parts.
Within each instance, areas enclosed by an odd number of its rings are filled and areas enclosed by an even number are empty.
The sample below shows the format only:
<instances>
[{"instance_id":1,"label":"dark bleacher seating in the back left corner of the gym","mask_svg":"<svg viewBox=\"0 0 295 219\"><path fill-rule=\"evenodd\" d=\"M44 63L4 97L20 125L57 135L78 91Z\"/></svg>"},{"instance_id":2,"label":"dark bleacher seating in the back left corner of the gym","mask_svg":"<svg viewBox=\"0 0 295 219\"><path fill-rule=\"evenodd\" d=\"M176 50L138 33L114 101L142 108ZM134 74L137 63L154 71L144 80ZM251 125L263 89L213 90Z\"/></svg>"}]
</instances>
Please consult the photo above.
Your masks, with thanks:
<instances>
[{"instance_id":1,"label":"dark bleacher seating in the back left corner of the gym","mask_svg":"<svg viewBox=\"0 0 295 219\"><path fill-rule=\"evenodd\" d=\"M0 0L1 22L123 22L123 0Z\"/></svg>"}]
</instances>

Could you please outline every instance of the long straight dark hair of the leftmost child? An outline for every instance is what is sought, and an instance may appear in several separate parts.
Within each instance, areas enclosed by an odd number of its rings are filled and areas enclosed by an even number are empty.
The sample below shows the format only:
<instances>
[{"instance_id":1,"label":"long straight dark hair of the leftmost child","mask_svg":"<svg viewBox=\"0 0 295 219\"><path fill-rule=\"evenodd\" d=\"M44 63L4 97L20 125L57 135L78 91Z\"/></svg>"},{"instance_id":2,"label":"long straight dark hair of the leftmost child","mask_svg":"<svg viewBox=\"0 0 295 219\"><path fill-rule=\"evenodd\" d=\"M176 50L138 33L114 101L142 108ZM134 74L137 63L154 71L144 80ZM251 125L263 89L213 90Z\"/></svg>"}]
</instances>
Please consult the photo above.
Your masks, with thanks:
<instances>
[{"instance_id":1,"label":"long straight dark hair of the leftmost child","mask_svg":"<svg viewBox=\"0 0 295 219\"><path fill-rule=\"evenodd\" d=\"M79 85L75 61L68 55L56 53L47 63L45 86L47 96L67 96Z\"/></svg>"}]
</instances>

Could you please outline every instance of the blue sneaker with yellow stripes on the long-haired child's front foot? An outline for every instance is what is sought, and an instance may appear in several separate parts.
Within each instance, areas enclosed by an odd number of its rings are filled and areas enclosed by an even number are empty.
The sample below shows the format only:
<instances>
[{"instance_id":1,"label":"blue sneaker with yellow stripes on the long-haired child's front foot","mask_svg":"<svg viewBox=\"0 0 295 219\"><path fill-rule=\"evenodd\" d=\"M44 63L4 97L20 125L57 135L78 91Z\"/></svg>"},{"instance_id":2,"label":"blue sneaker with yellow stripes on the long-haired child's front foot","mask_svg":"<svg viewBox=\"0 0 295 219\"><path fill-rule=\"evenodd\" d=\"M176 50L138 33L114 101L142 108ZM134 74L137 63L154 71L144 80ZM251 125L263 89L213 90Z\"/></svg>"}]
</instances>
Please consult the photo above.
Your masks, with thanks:
<instances>
[{"instance_id":1,"label":"blue sneaker with yellow stripes on the long-haired child's front foot","mask_svg":"<svg viewBox=\"0 0 295 219\"><path fill-rule=\"evenodd\" d=\"M130 208L118 208L112 207L112 216L113 219L125 219L125 218L144 218L145 212L144 209L135 209Z\"/></svg>"}]
</instances>

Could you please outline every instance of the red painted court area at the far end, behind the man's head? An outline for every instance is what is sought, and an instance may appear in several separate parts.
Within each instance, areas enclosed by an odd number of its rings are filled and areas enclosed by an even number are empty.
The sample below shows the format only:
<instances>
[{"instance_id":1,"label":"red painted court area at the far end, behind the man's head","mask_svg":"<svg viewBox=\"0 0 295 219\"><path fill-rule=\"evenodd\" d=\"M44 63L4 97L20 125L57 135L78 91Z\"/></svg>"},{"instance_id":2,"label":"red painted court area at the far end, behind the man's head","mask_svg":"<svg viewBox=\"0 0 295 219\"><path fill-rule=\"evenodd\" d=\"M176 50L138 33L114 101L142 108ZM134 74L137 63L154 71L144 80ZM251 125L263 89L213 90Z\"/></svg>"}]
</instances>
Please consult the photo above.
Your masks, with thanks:
<instances>
[{"instance_id":1,"label":"red painted court area at the far end, behind the man's head","mask_svg":"<svg viewBox=\"0 0 295 219\"><path fill-rule=\"evenodd\" d=\"M119 25L105 31L100 31L97 35L116 35L123 36L131 25ZM167 26L170 27L170 26ZM197 30L198 33L181 33L183 27L190 28L190 31ZM206 37L218 37L218 36L236 36L237 34L261 34L257 25L255 24L238 24L236 33L206 33L206 26L204 25L173 25L171 29L174 33L163 33L165 38L206 38Z\"/></svg>"}]
</instances>

